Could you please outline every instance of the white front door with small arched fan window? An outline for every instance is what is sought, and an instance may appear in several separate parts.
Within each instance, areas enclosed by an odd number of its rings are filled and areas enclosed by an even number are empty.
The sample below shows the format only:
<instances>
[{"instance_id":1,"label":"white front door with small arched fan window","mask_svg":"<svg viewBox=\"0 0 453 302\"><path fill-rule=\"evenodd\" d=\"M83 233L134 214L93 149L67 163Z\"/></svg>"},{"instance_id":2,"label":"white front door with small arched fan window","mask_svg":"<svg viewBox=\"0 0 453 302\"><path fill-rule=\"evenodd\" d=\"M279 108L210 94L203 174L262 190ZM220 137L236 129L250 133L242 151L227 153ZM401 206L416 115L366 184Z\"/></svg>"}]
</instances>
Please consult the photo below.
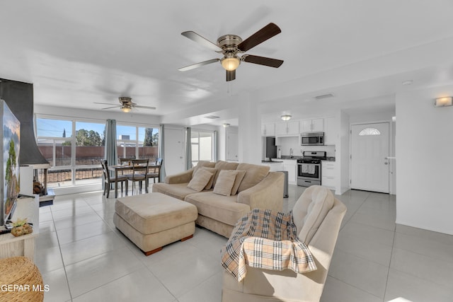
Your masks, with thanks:
<instances>
[{"instance_id":1,"label":"white front door with small arched fan window","mask_svg":"<svg viewBox=\"0 0 453 302\"><path fill-rule=\"evenodd\" d=\"M351 189L389 193L389 123L351 126Z\"/></svg>"}]
</instances>

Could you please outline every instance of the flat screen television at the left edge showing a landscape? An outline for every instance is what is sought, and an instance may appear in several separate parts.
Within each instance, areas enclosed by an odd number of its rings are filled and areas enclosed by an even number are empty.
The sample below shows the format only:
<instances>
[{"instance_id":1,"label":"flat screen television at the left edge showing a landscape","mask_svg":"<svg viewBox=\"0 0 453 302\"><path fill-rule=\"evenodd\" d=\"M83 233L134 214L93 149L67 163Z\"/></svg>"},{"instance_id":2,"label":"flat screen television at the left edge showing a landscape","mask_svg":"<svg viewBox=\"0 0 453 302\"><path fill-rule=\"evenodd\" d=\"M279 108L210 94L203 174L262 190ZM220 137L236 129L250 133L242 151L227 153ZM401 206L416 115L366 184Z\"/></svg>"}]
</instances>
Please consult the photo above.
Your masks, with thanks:
<instances>
[{"instance_id":1,"label":"flat screen television at the left edge showing a landscape","mask_svg":"<svg viewBox=\"0 0 453 302\"><path fill-rule=\"evenodd\" d=\"M3 129L1 134L1 151L3 158L0 169L1 192L0 192L0 226L12 216L16 207L19 186L19 151L21 147L21 122L13 115L4 100L0 100L0 118Z\"/></svg>"}]
</instances>

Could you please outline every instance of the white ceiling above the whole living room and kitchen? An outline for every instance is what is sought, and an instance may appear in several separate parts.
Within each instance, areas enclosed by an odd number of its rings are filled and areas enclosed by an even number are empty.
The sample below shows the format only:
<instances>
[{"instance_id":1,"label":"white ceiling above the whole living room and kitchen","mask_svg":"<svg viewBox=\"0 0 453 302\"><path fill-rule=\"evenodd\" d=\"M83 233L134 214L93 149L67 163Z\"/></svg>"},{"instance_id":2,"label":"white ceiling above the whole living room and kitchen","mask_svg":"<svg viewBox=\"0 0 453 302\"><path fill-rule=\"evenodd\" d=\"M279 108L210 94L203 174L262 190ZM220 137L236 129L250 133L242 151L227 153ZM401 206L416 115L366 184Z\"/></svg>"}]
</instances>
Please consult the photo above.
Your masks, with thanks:
<instances>
[{"instance_id":1,"label":"white ceiling above the whole living room and kitchen","mask_svg":"<svg viewBox=\"0 0 453 302\"><path fill-rule=\"evenodd\" d=\"M125 95L180 124L234 122L243 93L264 120L386 110L395 93L453 83L452 12L451 0L1 1L0 78L33 83L38 105L101 110ZM279 69L243 63L229 83L220 64L177 70L220 57L183 31L216 42L270 22L282 33L247 53Z\"/></svg>"}]
</instances>

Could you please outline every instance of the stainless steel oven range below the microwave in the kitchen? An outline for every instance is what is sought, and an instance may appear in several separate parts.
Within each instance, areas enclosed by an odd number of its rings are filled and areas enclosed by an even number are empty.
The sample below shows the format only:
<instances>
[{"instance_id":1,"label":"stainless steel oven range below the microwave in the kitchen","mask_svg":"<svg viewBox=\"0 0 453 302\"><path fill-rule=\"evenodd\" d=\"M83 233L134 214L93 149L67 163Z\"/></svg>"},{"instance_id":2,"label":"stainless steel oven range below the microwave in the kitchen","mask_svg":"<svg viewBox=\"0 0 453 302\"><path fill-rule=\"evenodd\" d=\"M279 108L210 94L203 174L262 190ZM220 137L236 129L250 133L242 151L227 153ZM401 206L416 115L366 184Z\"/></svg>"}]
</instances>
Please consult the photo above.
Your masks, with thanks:
<instances>
[{"instance_id":1,"label":"stainless steel oven range below the microwave in the kitchen","mask_svg":"<svg viewBox=\"0 0 453 302\"><path fill-rule=\"evenodd\" d=\"M326 159L326 151L304 151L304 157L297 160L297 185L321 185L323 159Z\"/></svg>"}]
</instances>

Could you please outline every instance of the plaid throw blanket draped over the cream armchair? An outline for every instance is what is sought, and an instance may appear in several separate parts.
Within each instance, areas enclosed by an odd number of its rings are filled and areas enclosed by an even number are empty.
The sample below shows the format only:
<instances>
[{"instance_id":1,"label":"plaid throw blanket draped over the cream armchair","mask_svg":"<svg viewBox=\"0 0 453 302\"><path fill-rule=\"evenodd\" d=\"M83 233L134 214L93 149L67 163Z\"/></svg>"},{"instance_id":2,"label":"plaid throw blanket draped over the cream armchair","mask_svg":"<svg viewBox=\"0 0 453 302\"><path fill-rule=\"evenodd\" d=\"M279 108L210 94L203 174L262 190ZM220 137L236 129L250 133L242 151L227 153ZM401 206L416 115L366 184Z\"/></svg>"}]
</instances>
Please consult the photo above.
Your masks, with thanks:
<instances>
[{"instance_id":1,"label":"plaid throw blanket draped over the cream armchair","mask_svg":"<svg viewBox=\"0 0 453 302\"><path fill-rule=\"evenodd\" d=\"M246 265L302 274L316 270L309 248L297 238L292 212L253 209L234 227L222 248L222 267L241 281Z\"/></svg>"}]
</instances>

